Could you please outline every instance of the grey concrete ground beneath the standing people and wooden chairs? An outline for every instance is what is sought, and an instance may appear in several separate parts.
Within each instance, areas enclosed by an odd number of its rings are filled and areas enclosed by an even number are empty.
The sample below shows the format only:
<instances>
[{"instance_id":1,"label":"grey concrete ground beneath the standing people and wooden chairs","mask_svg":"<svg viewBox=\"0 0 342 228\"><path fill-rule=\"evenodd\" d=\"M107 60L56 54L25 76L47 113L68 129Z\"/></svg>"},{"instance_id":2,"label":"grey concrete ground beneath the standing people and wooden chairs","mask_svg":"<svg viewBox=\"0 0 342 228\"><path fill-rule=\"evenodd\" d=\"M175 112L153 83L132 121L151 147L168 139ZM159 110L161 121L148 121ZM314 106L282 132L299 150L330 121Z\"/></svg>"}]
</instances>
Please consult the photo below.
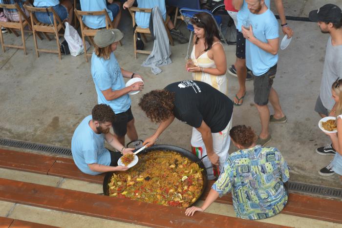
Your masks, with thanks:
<instances>
[{"instance_id":1,"label":"grey concrete ground beneath the standing people and wooden chairs","mask_svg":"<svg viewBox=\"0 0 342 228\"><path fill-rule=\"evenodd\" d=\"M342 7L342 0L284 0L285 13L287 16L307 17L310 10L328 2ZM328 35L321 34L314 22L288 23L295 32L294 38L287 49L279 50L274 83L288 123L270 125L272 141L268 145L278 147L282 152L291 168L292 181L341 188L338 175L321 177L318 174L318 170L333 157L315 152L318 146L329 143L328 137L318 128L320 117L313 110L319 95ZM172 63L162 67L161 74L153 75L149 68L141 66L147 55L138 54L137 60L134 58L132 25L127 12L124 12L119 28L125 34L123 46L115 51L121 67L139 73L145 79L144 90L131 96L136 128L139 138L144 140L153 134L157 125L152 124L138 107L139 99L152 89L191 79L191 74L184 67L187 44L175 41L171 47ZM180 29L187 33L184 25ZM8 33L4 34L4 39L7 43L21 42L20 37ZM0 138L70 147L74 129L97 104L90 62L85 62L84 55L63 56L60 61L55 54L41 53L40 58L37 58L31 35L27 35L26 45L26 56L22 50L13 48L7 48L5 53L0 54ZM46 39L38 41L38 45L56 48L55 41ZM146 49L151 47L152 41L146 45ZM227 64L234 63L235 46L225 45L225 51ZM237 79L228 73L227 78L229 97L233 99L238 88ZM259 133L259 117L253 105L253 82L246 84L247 94L243 105L234 109L233 124L251 125ZM190 149L190 137L191 127L174 121L160 136L158 144ZM230 152L234 150L234 146L231 146ZM0 208L4 208L3 204L0 205ZM12 208L11 205L7 207L9 210Z\"/></svg>"}]
</instances>

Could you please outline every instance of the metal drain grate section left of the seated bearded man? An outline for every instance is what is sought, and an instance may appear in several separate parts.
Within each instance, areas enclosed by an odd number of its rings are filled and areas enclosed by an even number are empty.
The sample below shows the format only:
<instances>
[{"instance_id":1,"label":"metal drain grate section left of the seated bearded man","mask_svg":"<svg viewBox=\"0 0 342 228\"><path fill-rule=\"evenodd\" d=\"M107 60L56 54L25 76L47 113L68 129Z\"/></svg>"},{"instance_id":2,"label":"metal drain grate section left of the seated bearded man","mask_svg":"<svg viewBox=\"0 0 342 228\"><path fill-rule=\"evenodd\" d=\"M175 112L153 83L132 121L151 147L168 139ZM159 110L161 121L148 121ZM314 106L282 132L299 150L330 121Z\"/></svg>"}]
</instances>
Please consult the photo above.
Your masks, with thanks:
<instances>
[{"instance_id":1,"label":"metal drain grate section left of the seated bearded man","mask_svg":"<svg viewBox=\"0 0 342 228\"><path fill-rule=\"evenodd\" d=\"M30 149L30 150L37 150L37 151L43 151L43 152L51 152L51 153L57 153L57 154L64 154L64 155L71 155L70 148L54 146L54 145L30 143L30 142L13 140L13 139L0 138L0 145L12 146L12 147L24 148L24 149Z\"/></svg>"}]
</instances>

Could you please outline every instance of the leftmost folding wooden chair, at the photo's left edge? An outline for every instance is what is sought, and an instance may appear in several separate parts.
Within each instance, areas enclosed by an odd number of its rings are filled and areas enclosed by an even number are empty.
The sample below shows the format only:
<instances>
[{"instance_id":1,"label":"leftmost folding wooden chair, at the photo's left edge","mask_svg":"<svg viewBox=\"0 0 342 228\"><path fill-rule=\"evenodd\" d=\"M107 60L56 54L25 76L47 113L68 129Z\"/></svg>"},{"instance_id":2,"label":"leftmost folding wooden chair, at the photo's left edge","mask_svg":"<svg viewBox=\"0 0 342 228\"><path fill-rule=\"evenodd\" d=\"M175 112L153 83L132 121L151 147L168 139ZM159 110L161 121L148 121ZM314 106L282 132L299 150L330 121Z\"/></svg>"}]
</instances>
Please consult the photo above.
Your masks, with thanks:
<instances>
[{"instance_id":1,"label":"leftmost folding wooden chair, at the photo's left edge","mask_svg":"<svg viewBox=\"0 0 342 228\"><path fill-rule=\"evenodd\" d=\"M5 47L13 47L13 48L23 49L24 54L27 55L26 45L25 45L25 37L24 37L24 28L26 27L26 25L28 25L32 29L31 22L26 17L24 12L21 10L18 3L0 4L0 8L10 9L10 10L16 9L18 11L19 21L6 21L6 22L0 21L0 27L8 28L9 31L13 32L17 37L19 37L19 34L14 29L19 29L21 32L21 40L22 40L22 46L12 45L12 44L4 44L2 33L0 33L0 42L1 42L3 52L6 52ZM42 40L42 37L40 35L39 35L39 38Z\"/></svg>"}]
</instances>

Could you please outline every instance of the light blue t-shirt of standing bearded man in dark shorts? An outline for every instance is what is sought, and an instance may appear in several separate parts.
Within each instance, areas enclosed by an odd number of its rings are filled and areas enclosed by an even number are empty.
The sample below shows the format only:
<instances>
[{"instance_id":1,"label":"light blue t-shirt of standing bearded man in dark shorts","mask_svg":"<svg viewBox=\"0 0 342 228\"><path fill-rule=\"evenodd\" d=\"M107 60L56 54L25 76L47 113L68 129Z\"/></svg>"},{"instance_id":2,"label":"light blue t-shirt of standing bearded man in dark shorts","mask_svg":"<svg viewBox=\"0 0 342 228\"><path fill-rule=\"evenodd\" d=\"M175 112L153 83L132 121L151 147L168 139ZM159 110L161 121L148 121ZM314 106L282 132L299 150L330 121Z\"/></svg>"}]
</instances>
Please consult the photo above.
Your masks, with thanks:
<instances>
[{"instance_id":1,"label":"light blue t-shirt of standing bearded man in dark shorts","mask_svg":"<svg viewBox=\"0 0 342 228\"><path fill-rule=\"evenodd\" d=\"M262 14L251 13L249 17L256 39L266 43L267 40L279 38L278 21L270 9ZM278 54L272 55L246 40L246 65L255 76L266 73L277 62Z\"/></svg>"}]
</instances>

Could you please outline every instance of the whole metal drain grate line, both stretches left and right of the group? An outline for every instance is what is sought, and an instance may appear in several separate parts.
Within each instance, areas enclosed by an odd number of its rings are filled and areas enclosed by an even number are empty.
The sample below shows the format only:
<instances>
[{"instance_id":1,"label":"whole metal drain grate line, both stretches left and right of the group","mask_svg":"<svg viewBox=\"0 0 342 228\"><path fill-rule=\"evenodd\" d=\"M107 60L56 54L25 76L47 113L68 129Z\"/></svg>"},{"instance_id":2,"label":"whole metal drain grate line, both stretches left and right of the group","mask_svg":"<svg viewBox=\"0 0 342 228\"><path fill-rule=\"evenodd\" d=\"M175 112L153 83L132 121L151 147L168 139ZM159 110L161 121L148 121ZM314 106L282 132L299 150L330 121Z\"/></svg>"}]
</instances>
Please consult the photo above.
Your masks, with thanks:
<instances>
[{"instance_id":1,"label":"whole metal drain grate line, both stretches left and right of the group","mask_svg":"<svg viewBox=\"0 0 342 228\"><path fill-rule=\"evenodd\" d=\"M24 148L24 149L30 149L30 150L37 150L37 151L42 151L42 152L52 152L52 153L58 153L58 154L64 154L64 155L71 155L70 148L30 143L30 142L12 140L12 139L0 138L0 145L12 146L12 147ZM310 184L290 181L289 190L303 192L303 193L310 193L310 194L315 194L315 195L328 196L328 197L342 198L341 188L324 187L324 186L310 185Z\"/></svg>"}]
</instances>

